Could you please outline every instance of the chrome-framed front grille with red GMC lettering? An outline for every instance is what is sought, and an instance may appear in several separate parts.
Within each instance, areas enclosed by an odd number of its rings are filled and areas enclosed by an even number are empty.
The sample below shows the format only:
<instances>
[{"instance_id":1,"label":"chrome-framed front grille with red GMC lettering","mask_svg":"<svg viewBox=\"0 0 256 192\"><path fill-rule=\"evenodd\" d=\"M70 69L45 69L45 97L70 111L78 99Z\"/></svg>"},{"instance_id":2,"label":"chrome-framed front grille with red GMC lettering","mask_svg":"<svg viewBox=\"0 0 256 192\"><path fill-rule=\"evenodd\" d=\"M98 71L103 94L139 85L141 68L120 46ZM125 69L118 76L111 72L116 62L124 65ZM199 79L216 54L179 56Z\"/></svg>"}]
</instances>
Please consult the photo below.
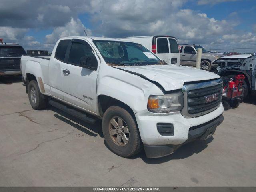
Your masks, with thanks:
<instances>
[{"instance_id":1,"label":"chrome-framed front grille with red GMC lettering","mask_svg":"<svg viewBox=\"0 0 256 192\"><path fill-rule=\"evenodd\" d=\"M220 106L222 90L221 79L184 85L182 115L191 118L212 112Z\"/></svg>"}]
</instances>

